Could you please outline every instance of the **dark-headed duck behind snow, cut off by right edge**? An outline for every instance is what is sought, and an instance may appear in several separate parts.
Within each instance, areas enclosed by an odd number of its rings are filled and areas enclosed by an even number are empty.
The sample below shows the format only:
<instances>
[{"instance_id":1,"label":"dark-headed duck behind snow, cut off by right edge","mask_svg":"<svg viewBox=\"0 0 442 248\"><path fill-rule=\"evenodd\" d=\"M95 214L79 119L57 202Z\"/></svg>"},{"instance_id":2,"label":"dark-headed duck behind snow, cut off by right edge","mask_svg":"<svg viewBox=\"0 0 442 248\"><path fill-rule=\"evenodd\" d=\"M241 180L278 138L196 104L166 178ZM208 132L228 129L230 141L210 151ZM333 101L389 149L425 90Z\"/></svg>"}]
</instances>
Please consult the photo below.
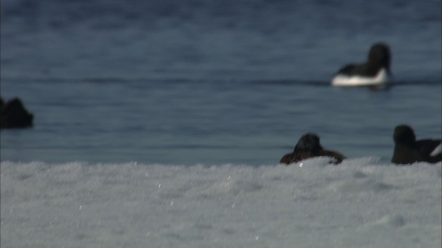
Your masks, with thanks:
<instances>
[{"instance_id":1,"label":"dark-headed duck behind snow, cut off by right edge","mask_svg":"<svg viewBox=\"0 0 442 248\"><path fill-rule=\"evenodd\" d=\"M437 163L442 161L441 139L416 141L414 131L408 125L396 126L393 139L392 163L406 165L415 162Z\"/></svg>"}]
</instances>

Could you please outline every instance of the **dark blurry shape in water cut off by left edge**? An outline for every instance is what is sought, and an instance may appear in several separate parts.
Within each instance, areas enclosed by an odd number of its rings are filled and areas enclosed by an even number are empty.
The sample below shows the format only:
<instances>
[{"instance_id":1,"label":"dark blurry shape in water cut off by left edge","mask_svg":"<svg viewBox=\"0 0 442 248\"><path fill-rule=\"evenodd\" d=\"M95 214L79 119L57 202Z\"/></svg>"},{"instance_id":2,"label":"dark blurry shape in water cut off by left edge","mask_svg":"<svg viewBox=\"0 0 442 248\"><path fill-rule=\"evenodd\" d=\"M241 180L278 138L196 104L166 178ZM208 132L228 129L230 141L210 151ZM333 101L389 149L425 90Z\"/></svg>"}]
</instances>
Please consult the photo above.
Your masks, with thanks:
<instances>
[{"instance_id":1,"label":"dark blurry shape in water cut off by left edge","mask_svg":"<svg viewBox=\"0 0 442 248\"><path fill-rule=\"evenodd\" d=\"M0 128L23 128L32 127L34 115L25 109L18 98L3 103L0 99Z\"/></svg>"}]
</instances>

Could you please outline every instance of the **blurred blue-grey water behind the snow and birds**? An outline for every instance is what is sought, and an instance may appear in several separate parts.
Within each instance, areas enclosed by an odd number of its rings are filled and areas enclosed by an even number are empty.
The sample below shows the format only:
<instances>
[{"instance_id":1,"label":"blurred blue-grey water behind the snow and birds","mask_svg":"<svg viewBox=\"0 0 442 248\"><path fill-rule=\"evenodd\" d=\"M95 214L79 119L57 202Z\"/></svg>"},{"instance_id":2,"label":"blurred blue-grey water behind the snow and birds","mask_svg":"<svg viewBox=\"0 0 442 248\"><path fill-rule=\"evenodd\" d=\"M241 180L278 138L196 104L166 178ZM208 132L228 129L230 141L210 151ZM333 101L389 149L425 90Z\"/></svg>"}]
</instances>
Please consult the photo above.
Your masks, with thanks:
<instances>
[{"instance_id":1,"label":"blurred blue-grey water behind the snow and birds","mask_svg":"<svg viewBox=\"0 0 442 248\"><path fill-rule=\"evenodd\" d=\"M441 1L1 1L1 161L276 164L305 132L392 156L441 137ZM378 41L387 90L329 85Z\"/></svg>"}]
</instances>

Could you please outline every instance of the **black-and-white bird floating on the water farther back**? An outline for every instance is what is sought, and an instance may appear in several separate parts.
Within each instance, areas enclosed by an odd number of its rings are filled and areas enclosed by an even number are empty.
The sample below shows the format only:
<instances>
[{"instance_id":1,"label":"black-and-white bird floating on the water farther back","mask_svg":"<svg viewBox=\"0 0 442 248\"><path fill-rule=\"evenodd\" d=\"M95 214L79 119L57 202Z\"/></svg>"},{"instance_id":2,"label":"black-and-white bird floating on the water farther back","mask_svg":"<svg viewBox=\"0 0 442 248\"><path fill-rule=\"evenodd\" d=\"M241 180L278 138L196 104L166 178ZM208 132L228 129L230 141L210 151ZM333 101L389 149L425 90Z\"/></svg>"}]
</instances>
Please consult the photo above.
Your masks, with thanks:
<instances>
[{"instance_id":1,"label":"black-and-white bird floating on the water farther back","mask_svg":"<svg viewBox=\"0 0 442 248\"><path fill-rule=\"evenodd\" d=\"M390 62L390 47L385 43L376 43L370 48L366 63L345 65L335 74L332 79L332 85L384 85L391 74Z\"/></svg>"}]
</instances>

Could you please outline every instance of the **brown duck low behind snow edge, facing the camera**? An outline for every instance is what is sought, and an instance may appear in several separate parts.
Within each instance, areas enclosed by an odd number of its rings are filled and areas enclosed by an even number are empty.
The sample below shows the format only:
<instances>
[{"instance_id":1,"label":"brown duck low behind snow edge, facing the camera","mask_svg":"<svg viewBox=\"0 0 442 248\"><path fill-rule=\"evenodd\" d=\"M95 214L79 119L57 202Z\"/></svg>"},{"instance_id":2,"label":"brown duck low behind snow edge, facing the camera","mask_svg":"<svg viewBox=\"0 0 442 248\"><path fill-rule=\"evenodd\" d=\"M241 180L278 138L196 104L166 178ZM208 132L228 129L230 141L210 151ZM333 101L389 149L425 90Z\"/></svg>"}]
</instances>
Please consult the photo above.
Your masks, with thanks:
<instances>
[{"instance_id":1,"label":"brown duck low behind snow edge, facing the camera","mask_svg":"<svg viewBox=\"0 0 442 248\"><path fill-rule=\"evenodd\" d=\"M314 133L307 133L302 135L295 146L294 152L282 156L279 163L289 165L297 163L307 158L314 158L318 156L327 156L332 158L331 163L341 163L345 158L340 152L325 150L320 145L319 136Z\"/></svg>"}]
</instances>

